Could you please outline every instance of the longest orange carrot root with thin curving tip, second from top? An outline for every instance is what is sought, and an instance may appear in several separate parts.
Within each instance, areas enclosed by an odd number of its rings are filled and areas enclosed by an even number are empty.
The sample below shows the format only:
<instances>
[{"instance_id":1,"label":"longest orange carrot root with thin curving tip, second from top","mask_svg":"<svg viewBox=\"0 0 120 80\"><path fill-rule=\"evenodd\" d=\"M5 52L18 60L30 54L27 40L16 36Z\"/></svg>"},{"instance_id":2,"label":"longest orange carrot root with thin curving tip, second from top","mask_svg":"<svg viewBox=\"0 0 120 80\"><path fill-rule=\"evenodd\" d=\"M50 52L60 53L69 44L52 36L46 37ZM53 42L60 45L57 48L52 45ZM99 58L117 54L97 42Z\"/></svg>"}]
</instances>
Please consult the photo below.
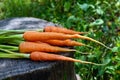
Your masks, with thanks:
<instances>
[{"instance_id":1,"label":"longest orange carrot root with thin curving tip, second from top","mask_svg":"<svg viewBox=\"0 0 120 80\"><path fill-rule=\"evenodd\" d=\"M50 40L50 39L65 40L65 39L79 38L79 39L86 39L86 40L93 41L95 43L98 43L106 47L107 49L110 49L109 47L105 46L103 43L97 40L94 40L90 37L82 36L79 34L69 35L69 34L55 33L55 32L26 31L23 34L23 37L26 41L45 41L45 40Z\"/></svg>"}]
</instances>

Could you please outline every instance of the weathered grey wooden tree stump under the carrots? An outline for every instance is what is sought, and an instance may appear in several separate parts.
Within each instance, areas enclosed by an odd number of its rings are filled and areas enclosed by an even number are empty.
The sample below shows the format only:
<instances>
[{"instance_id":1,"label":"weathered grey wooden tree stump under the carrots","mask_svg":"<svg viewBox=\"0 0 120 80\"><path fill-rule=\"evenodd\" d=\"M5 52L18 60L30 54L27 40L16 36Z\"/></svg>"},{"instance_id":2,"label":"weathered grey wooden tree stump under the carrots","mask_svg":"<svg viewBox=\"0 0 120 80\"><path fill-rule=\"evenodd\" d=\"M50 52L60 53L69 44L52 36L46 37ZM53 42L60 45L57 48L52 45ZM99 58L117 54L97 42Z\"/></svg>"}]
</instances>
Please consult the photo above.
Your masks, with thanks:
<instances>
[{"instance_id":1,"label":"weathered grey wooden tree stump under the carrots","mask_svg":"<svg viewBox=\"0 0 120 80\"><path fill-rule=\"evenodd\" d=\"M0 29L38 29L55 25L37 18L11 18L0 21ZM66 56L73 54L63 53ZM34 62L27 59L0 59L0 80L76 80L71 62Z\"/></svg>"}]
</instances>

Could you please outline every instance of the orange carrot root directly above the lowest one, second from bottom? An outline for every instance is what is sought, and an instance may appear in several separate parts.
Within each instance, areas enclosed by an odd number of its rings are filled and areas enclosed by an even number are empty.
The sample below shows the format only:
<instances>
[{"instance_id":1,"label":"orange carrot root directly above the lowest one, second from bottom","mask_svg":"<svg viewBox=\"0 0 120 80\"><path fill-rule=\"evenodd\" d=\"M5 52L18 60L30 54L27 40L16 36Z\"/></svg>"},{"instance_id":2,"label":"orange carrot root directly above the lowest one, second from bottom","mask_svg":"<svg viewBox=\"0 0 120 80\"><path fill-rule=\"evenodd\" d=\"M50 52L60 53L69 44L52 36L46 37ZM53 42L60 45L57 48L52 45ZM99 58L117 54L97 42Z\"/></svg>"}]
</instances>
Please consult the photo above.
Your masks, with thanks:
<instances>
[{"instance_id":1,"label":"orange carrot root directly above the lowest one, second from bottom","mask_svg":"<svg viewBox=\"0 0 120 80\"><path fill-rule=\"evenodd\" d=\"M34 51L42 51L42 52L68 52L68 51L76 51L74 49L61 48L56 46L51 46L45 43L35 43L35 42L21 42L19 45L20 52L34 52Z\"/></svg>"}]
</instances>

